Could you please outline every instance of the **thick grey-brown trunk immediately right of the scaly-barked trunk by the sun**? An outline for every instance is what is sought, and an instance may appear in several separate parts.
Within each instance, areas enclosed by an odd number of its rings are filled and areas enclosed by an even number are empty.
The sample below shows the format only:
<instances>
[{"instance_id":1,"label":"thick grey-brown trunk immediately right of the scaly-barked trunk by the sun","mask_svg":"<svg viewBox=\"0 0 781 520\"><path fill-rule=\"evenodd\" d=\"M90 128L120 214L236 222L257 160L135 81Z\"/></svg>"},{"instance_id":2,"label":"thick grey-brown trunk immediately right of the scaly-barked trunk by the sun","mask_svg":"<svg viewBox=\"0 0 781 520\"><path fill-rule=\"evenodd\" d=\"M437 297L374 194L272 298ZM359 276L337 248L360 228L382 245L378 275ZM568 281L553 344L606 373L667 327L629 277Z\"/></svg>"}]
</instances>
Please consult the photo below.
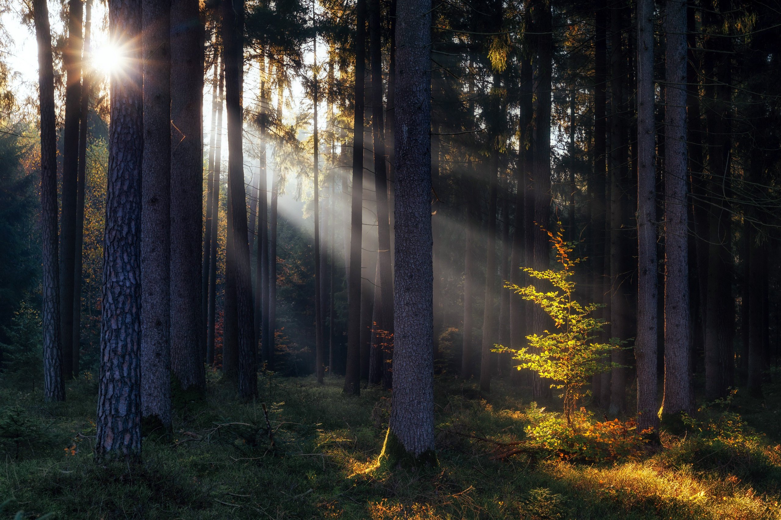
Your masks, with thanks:
<instances>
[{"instance_id":1,"label":"thick grey-brown trunk immediately right of the scaly-barked trunk by the sun","mask_svg":"<svg viewBox=\"0 0 781 520\"><path fill-rule=\"evenodd\" d=\"M160 426L169 430L170 2L142 2L144 154L141 163L141 412L144 419L159 422Z\"/></svg>"}]
</instances>

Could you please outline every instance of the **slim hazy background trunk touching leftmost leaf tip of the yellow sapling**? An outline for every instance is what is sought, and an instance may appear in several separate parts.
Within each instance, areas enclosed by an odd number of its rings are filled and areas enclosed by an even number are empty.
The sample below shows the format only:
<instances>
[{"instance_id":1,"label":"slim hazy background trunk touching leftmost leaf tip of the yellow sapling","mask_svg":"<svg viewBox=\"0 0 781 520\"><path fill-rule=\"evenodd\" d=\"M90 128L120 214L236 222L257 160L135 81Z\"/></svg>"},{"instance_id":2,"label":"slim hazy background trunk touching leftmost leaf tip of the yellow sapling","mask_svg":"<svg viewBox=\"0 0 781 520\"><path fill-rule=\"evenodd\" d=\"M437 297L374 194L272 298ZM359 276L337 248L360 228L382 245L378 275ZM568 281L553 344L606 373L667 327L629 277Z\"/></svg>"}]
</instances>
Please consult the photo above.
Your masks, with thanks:
<instances>
[{"instance_id":1,"label":"slim hazy background trunk touching leftmost leaf tip of the yellow sapling","mask_svg":"<svg viewBox=\"0 0 781 520\"><path fill-rule=\"evenodd\" d=\"M496 85L497 78L494 76ZM496 207L497 172L499 169L499 150L491 150L490 170L488 172L488 219L486 222L486 286L485 305L483 306L483 341L480 353L480 391L490 392L490 378L493 375L491 348L496 340L496 310L494 297L496 288Z\"/></svg>"}]
</instances>

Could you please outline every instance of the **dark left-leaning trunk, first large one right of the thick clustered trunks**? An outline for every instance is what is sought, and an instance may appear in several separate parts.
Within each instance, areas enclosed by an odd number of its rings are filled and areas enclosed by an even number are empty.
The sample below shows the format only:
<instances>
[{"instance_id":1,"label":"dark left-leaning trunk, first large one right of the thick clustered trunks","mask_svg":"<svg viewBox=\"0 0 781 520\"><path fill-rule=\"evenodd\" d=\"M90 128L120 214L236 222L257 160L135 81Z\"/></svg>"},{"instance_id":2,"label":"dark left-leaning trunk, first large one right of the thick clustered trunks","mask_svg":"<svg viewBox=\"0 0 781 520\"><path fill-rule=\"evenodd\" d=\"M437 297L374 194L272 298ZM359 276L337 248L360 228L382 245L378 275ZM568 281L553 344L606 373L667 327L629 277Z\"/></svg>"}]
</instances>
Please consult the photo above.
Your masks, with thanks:
<instances>
[{"instance_id":1,"label":"dark left-leaning trunk, first large one right of the thick clustered trunks","mask_svg":"<svg viewBox=\"0 0 781 520\"><path fill-rule=\"evenodd\" d=\"M223 44L225 45L225 97L228 111L228 176L230 177L231 231L236 253L235 285L239 345L239 395L258 394L255 370L255 328L252 312L252 282L247 236L247 197L244 193L242 150L241 80L244 63L244 0L223 0ZM262 220L262 219L261 219Z\"/></svg>"}]
</instances>

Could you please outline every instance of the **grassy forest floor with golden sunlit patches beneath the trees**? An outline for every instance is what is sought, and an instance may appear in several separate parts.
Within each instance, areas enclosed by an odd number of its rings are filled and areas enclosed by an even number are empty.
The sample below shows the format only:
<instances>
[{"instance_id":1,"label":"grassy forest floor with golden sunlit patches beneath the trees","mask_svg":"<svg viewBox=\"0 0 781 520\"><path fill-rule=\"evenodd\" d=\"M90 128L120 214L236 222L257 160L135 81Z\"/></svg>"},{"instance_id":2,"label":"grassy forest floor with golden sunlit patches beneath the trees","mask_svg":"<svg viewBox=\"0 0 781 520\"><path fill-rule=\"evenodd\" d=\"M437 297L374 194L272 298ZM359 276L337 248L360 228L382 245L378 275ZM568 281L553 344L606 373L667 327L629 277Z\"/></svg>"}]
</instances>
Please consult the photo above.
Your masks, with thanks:
<instances>
[{"instance_id":1,"label":"grassy forest floor with golden sunlit patches beneath the trees","mask_svg":"<svg viewBox=\"0 0 781 520\"><path fill-rule=\"evenodd\" d=\"M205 399L177 401L173 438L146 437L134 469L93 461L94 380L71 382L68 401L52 405L0 389L0 518L781 518L779 386L732 405L766 436L744 426L714 447L687 430L663 435L664 449L594 463L492 460L542 412L501 382L480 398L439 377L439 465L389 470L373 462L390 393L347 398L342 383L262 377L259 399L240 404L209 374Z\"/></svg>"}]
</instances>

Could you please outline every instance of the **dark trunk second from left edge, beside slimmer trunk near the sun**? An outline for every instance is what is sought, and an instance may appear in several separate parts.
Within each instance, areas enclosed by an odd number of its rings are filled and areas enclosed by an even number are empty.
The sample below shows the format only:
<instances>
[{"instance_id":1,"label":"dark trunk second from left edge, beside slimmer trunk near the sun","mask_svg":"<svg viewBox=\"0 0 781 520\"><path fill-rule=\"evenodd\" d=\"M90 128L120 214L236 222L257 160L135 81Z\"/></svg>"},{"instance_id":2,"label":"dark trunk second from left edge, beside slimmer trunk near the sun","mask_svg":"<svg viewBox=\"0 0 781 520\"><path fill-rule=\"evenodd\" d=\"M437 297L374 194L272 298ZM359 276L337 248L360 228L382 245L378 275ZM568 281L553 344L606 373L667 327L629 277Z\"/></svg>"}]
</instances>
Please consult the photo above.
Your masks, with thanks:
<instances>
[{"instance_id":1,"label":"dark trunk second from left edge, beside slimmer trunk near the sun","mask_svg":"<svg viewBox=\"0 0 781 520\"><path fill-rule=\"evenodd\" d=\"M68 40L62 53L66 72L65 126L62 129L62 222L60 224L60 341L62 372L70 378L78 372L73 359L78 345L73 345L73 278L76 260L77 183L79 169L79 121L81 105L82 0L68 2Z\"/></svg>"}]
</instances>

